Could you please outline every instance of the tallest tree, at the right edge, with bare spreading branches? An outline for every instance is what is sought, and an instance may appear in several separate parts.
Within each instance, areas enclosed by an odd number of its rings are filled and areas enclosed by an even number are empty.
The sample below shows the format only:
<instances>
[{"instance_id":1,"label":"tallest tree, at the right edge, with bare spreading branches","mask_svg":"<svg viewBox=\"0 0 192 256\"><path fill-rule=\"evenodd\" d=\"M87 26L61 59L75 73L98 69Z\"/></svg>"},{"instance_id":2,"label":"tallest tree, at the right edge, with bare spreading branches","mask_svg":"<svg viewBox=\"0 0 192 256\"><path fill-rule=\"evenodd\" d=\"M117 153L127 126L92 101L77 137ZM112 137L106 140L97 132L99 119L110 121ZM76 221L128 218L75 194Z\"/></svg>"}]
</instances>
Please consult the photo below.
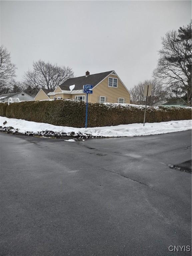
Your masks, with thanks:
<instances>
[{"instance_id":1,"label":"tallest tree, at the right edge, with bare spreading branches","mask_svg":"<svg viewBox=\"0 0 192 256\"><path fill-rule=\"evenodd\" d=\"M181 95L186 94L187 105L191 106L191 22L178 31L169 31L162 38L162 46L153 77L169 90L179 86Z\"/></svg>"}]
</instances>

